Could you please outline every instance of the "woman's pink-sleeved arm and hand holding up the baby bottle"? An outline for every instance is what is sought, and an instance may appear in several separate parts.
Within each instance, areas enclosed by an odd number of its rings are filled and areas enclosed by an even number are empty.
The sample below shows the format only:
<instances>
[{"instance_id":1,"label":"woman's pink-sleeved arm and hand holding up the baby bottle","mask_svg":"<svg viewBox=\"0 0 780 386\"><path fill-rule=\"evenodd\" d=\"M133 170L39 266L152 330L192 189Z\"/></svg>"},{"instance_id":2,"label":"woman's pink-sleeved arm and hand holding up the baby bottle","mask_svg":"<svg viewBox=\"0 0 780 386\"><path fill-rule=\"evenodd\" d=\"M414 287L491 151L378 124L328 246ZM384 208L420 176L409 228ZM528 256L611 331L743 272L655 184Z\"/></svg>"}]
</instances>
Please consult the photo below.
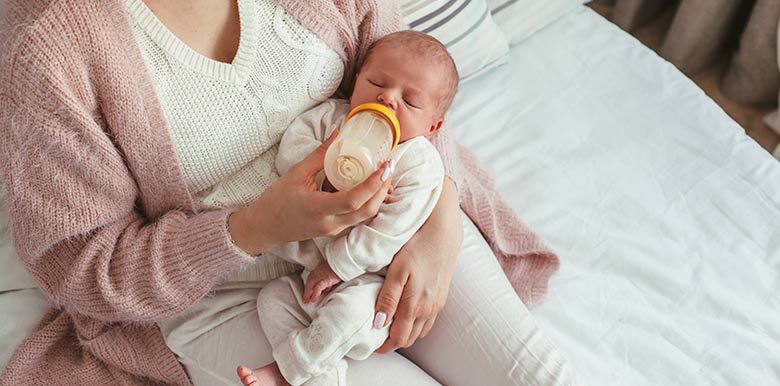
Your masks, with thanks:
<instances>
[{"instance_id":1,"label":"woman's pink-sleeved arm and hand holding up the baby bottle","mask_svg":"<svg viewBox=\"0 0 780 386\"><path fill-rule=\"evenodd\" d=\"M142 208L153 193L139 191L132 160L117 149L125 139L106 133L131 130L96 120L95 107L69 88L72 72L30 63L0 77L0 169L17 253L68 312L110 322L175 316L251 262L245 252L337 233L373 216L385 197L381 170L354 192L313 192L322 147L239 211L246 216L169 208L149 217Z\"/></svg>"}]
</instances>

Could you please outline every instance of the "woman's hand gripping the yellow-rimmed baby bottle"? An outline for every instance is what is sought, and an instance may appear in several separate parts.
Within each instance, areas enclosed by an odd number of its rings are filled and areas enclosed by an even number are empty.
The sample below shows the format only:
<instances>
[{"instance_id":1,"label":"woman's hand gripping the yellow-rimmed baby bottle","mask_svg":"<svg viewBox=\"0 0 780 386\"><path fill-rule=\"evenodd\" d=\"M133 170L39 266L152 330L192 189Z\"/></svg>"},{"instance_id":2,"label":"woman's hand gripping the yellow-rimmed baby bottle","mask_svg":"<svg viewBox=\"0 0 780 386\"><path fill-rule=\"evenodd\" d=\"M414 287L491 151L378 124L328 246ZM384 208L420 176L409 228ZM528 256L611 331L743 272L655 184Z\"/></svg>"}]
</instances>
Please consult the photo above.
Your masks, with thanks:
<instances>
[{"instance_id":1,"label":"woman's hand gripping the yellow-rimmed baby bottle","mask_svg":"<svg viewBox=\"0 0 780 386\"><path fill-rule=\"evenodd\" d=\"M256 255L285 242L336 235L376 215L390 187L388 164L350 191L317 189L315 176L323 169L325 152L336 135L338 130L260 198L230 215L228 228L239 248Z\"/></svg>"}]
</instances>

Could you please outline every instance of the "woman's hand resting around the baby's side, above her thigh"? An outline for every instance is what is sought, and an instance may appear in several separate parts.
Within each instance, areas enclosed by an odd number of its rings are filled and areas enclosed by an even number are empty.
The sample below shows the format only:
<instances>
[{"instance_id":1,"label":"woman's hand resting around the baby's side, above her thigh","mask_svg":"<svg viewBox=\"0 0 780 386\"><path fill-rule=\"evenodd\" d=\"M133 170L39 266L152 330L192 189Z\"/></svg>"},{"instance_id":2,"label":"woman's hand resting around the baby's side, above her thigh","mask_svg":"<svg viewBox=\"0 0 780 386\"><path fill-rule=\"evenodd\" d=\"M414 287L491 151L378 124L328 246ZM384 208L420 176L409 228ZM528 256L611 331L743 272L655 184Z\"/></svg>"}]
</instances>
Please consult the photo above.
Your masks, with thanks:
<instances>
[{"instance_id":1,"label":"woman's hand resting around the baby's side, above her thigh","mask_svg":"<svg viewBox=\"0 0 780 386\"><path fill-rule=\"evenodd\" d=\"M428 221L395 255L376 303L374 328L387 325L390 337L378 353L409 347L428 335L444 307L463 241L455 184L445 179Z\"/></svg>"}]
</instances>

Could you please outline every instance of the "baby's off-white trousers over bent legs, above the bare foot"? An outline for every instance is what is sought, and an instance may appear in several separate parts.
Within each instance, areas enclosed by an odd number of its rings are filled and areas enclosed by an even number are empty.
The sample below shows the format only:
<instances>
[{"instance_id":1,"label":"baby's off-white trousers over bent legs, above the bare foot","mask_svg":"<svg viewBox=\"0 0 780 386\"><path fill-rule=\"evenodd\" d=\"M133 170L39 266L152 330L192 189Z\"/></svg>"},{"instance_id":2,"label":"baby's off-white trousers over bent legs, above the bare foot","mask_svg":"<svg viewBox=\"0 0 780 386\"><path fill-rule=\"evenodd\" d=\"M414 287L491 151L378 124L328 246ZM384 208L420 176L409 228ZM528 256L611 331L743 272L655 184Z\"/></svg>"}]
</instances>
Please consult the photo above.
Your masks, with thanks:
<instances>
[{"instance_id":1,"label":"baby's off-white trousers over bent legs, above the bare foot","mask_svg":"<svg viewBox=\"0 0 780 386\"><path fill-rule=\"evenodd\" d=\"M363 275L314 304L303 303L303 281L298 276L275 280L261 291L260 323L279 370L290 383L315 382L319 375L343 382L344 372L339 377L333 371L346 368L345 356L365 359L384 342L388 328L371 326L381 285L380 276Z\"/></svg>"}]
</instances>

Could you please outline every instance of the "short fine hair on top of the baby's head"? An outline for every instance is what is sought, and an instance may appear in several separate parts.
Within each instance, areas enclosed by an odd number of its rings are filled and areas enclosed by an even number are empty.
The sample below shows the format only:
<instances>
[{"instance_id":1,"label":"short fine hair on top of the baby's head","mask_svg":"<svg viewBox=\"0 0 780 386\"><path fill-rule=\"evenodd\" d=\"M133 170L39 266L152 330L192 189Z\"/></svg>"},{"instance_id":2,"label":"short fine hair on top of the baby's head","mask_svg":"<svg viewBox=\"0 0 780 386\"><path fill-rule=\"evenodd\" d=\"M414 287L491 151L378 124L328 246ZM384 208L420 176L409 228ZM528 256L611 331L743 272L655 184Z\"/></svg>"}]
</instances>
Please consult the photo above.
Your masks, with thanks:
<instances>
[{"instance_id":1,"label":"short fine hair on top of the baby's head","mask_svg":"<svg viewBox=\"0 0 780 386\"><path fill-rule=\"evenodd\" d=\"M455 98L455 93L458 91L458 80L460 79L458 69L455 67L455 61L452 60L452 56L447 52L447 47L433 36L422 32L413 30L393 32L383 36L368 47L366 58L363 61L362 66L365 66L371 60L372 51L381 45L389 43L401 44L405 49L415 50L419 54L433 60L437 65L445 67L447 89L445 90L446 92L442 96L442 99L439 101L438 106L439 111L444 115L450 108L450 105L452 105L452 100Z\"/></svg>"}]
</instances>

